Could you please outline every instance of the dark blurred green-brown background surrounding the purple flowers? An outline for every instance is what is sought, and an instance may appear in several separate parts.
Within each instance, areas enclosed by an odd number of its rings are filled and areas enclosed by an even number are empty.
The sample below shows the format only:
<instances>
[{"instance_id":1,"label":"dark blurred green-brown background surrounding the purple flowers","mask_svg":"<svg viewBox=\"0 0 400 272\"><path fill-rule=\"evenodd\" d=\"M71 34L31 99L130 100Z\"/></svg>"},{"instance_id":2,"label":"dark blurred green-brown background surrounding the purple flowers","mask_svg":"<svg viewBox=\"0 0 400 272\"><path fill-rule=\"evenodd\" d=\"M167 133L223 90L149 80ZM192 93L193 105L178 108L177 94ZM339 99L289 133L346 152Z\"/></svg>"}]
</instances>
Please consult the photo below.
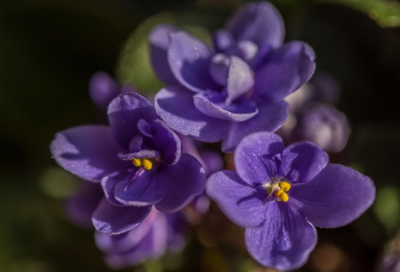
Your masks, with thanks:
<instances>
[{"instance_id":1,"label":"dark blurred green-brown background surrounding the purple flowers","mask_svg":"<svg viewBox=\"0 0 400 272\"><path fill-rule=\"evenodd\" d=\"M389 0L274 0L286 40L316 51L316 71L340 84L348 146L332 154L369 175L376 202L347 227L318 229L299 271L374 271L400 262L400 3ZM141 92L162 84L148 61L159 22L205 41L244 0L2 0L0 2L0 271L109 271L92 229L73 225L64 199L79 183L52 160L56 132L99 124L88 94L102 70ZM346 190L346 188L343 188ZM212 204L183 252L124 271L269 271L249 258L243 230ZM388 257L389 256L389 257Z\"/></svg>"}]
</instances>

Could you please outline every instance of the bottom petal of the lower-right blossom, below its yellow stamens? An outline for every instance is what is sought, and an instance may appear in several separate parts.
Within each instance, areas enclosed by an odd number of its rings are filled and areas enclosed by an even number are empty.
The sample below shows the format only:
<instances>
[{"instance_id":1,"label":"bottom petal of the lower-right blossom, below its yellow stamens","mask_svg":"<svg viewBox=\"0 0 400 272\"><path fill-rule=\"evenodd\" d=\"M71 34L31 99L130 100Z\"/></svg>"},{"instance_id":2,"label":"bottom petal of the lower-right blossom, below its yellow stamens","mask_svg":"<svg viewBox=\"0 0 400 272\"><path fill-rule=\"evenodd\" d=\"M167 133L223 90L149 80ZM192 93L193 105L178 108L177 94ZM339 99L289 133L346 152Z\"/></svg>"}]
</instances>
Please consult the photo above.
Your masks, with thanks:
<instances>
[{"instance_id":1,"label":"bottom petal of the lower-right blossom, below its yellow stamens","mask_svg":"<svg viewBox=\"0 0 400 272\"><path fill-rule=\"evenodd\" d=\"M245 230L250 255L268 268L300 268L316 246L316 228L287 203L271 202L266 210L264 225Z\"/></svg>"}]
</instances>

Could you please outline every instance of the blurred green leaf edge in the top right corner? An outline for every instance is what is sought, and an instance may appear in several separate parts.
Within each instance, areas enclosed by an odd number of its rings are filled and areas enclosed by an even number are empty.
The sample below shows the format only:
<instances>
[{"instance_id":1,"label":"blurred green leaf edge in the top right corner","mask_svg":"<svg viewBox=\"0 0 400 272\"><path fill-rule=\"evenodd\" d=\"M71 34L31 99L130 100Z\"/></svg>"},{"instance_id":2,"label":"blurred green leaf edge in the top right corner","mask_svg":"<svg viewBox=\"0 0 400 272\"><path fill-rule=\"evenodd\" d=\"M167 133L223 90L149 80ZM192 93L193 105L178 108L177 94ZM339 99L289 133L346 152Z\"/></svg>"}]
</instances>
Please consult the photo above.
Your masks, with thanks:
<instances>
[{"instance_id":1,"label":"blurred green leaf edge in the top right corner","mask_svg":"<svg viewBox=\"0 0 400 272\"><path fill-rule=\"evenodd\" d=\"M317 2L345 4L365 12L381 27L400 26L400 4L390 0L317 0Z\"/></svg>"}]
</instances>

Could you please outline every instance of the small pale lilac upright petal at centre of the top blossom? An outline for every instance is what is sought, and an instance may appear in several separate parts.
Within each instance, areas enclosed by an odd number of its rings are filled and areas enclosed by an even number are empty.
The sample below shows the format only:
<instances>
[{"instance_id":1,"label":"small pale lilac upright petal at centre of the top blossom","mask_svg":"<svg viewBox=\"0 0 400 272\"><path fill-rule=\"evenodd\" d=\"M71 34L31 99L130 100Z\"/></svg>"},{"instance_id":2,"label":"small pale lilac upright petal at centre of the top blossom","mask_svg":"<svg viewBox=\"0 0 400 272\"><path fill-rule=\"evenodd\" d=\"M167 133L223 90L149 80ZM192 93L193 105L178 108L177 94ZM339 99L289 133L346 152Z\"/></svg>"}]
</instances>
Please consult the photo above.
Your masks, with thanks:
<instances>
[{"instance_id":1,"label":"small pale lilac upright petal at centre of the top blossom","mask_svg":"<svg viewBox=\"0 0 400 272\"><path fill-rule=\"evenodd\" d=\"M254 76L252 68L250 68L244 60L232 56L230 58L230 67L228 71L228 97L226 102L230 104L233 100L236 100L236 98L248 92L253 84Z\"/></svg>"}]
</instances>

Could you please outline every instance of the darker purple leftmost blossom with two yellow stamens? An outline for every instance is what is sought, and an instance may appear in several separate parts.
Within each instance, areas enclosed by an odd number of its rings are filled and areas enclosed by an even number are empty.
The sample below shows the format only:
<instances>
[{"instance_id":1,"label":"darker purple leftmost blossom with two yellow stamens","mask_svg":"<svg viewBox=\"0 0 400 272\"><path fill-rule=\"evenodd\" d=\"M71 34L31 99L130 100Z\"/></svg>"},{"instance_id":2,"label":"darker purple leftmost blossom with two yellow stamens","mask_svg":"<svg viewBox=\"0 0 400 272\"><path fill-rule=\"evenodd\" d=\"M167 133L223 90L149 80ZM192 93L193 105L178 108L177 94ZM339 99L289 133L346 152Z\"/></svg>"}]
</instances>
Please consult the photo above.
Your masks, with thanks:
<instances>
[{"instance_id":1,"label":"darker purple leftmost blossom with two yellow stamens","mask_svg":"<svg viewBox=\"0 0 400 272\"><path fill-rule=\"evenodd\" d=\"M181 153L179 137L136 93L108 106L105 125L83 125L59 132L51 152L63 168L100 182L105 193L92 214L100 232L120 234L136 227L151 206L175 212L204 190L204 169Z\"/></svg>"}]
</instances>

